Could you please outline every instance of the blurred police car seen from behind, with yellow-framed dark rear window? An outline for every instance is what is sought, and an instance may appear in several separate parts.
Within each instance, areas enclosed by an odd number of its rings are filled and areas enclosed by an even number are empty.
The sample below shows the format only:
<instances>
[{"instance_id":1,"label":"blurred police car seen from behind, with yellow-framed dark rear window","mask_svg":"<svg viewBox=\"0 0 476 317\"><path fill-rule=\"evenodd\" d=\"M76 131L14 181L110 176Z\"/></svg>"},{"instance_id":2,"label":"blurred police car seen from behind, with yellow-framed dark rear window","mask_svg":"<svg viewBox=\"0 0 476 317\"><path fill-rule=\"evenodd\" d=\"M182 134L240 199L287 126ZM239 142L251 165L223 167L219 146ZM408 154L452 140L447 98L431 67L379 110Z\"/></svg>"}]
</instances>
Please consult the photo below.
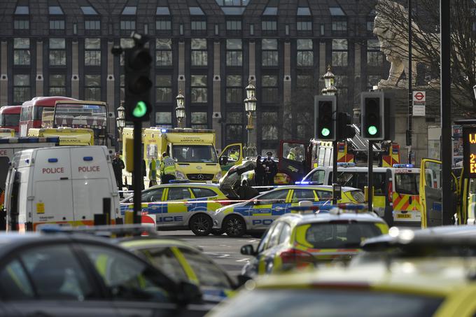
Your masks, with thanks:
<instances>
[{"instance_id":1,"label":"blurred police car seen from behind, with yellow-framed dark rear window","mask_svg":"<svg viewBox=\"0 0 476 317\"><path fill-rule=\"evenodd\" d=\"M242 254L255 256L241 274L253 277L331 260L346 261L360 252L361 241L387 232L384 220L374 213L337 208L325 213L290 213L269 226L257 250L251 244L241 248Z\"/></svg>"}]
</instances>

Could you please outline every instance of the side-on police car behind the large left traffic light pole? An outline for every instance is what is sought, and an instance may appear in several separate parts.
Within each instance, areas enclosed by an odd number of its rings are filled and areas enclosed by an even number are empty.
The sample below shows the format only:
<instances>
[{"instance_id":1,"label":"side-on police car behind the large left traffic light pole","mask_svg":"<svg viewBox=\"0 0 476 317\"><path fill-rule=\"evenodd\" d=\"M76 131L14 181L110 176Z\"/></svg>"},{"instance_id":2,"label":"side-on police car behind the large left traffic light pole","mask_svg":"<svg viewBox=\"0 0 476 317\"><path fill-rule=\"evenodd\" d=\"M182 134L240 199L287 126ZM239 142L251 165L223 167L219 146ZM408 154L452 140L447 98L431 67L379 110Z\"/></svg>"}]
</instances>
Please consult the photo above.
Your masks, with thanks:
<instances>
[{"instance_id":1,"label":"side-on police car behind the large left traffic light pole","mask_svg":"<svg viewBox=\"0 0 476 317\"><path fill-rule=\"evenodd\" d=\"M155 215L157 230L192 230L197 236L212 232L212 213L230 204L218 185L176 183L156 185L142 191L142 212ZM121 214L133 211L133 197L120 204Z\"/></svg>"}]
</instances>

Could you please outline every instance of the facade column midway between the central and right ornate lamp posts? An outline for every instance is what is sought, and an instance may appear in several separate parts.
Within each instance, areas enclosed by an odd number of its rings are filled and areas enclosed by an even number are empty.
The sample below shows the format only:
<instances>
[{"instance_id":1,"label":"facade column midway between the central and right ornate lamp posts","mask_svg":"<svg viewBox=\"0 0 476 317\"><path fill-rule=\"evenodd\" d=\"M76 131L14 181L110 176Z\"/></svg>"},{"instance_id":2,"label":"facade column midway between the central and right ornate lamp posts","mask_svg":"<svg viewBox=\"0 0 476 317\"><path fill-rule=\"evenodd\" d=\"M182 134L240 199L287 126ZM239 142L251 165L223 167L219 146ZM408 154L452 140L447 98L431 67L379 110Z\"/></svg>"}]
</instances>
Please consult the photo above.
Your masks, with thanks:
<instances>
[{"instance_id":1,"label":"facade column midway between the central and right ornate lamp posts","mask_svg":"<svg viewBox=\"0 0 476 317\"><path fill-rule=\"evenodd\" d=\"M284 43L283 139L293 137L293 108L291 106L291 43Z\"/></svg>"}]
</instances>

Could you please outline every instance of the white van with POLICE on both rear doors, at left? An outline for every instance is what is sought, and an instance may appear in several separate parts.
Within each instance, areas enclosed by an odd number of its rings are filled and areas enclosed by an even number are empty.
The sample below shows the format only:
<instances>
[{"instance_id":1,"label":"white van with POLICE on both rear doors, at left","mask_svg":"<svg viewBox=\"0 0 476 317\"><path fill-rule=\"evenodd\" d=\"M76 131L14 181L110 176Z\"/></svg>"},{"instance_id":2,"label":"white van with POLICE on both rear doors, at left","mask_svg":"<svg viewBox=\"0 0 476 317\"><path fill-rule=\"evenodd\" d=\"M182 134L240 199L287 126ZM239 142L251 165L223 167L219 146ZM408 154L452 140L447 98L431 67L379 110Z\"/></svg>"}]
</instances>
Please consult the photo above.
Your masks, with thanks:
<instances>
[{"instance_id":1,"label":"white van with POLICE on both rear doors, at left","mask_svg":"<svg viewBox=\"0 0 476 317\"><path fill-rule=\"evenodd\" d=\"M93 225L111 199L111 223L121 217L109 151L105 146L33 148L15 153L6 179L7 230L38 225Z\"/></svg>"}]
</instances>

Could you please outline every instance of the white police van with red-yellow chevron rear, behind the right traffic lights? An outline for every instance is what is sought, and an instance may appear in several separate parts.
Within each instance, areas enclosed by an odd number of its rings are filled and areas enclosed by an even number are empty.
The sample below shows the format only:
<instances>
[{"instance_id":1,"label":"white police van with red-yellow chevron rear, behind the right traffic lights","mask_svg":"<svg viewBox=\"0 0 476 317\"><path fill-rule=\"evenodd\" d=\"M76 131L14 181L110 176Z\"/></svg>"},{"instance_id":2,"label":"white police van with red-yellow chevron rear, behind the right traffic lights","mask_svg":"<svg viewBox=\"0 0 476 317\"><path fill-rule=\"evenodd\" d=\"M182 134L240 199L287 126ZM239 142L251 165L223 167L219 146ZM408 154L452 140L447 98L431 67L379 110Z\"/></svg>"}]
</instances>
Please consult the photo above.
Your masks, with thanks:
<instances>
[{"instance_id":1,"label":"white police van with red-yellow chevron rear, behind the right traffic lights","mask_svg":"<svg viewBox=\"0 0 476 317\"><path fill-rule=\"evenodd\" d=\"M356 167L353 163L337 165L337 183L364 190L367 186L367 167ZM420 169L414 168L412 164L374 167L374 211L388 223L393 220L393 225L420 226L419 173ZM332 167L316 167L302 181L332 185ZM393 219L390 216L392 214Z\"/></svg>"}]
</instances>

